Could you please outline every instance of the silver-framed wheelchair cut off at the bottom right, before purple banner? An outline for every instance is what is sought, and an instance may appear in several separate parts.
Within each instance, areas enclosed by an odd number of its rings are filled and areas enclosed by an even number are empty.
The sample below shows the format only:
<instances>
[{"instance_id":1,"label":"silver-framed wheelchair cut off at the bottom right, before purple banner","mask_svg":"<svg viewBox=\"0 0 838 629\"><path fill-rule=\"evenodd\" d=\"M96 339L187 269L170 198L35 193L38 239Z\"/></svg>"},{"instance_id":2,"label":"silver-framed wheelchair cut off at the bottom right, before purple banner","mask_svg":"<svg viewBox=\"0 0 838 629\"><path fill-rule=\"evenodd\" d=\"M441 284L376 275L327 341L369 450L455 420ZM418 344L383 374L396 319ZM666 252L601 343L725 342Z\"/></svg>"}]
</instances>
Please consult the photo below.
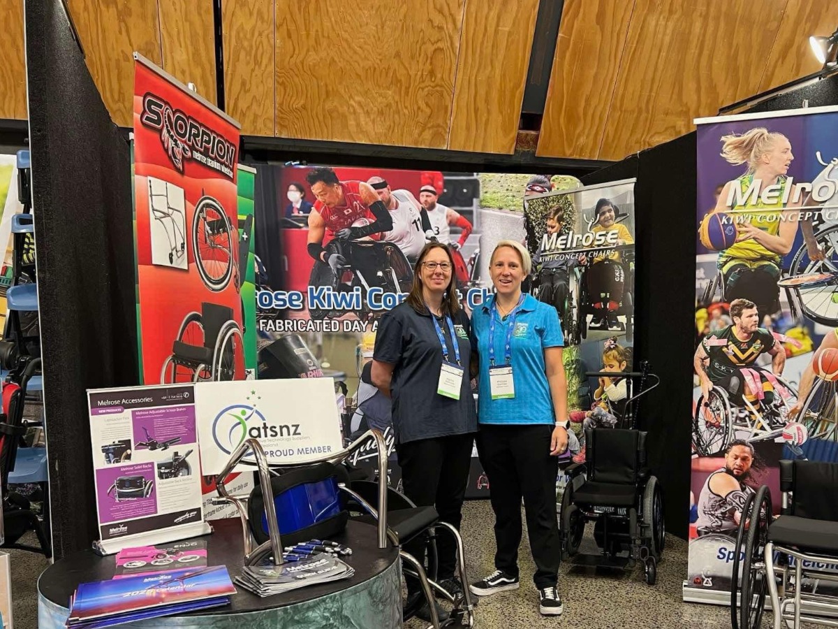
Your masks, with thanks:
<instances>
[{"instance_id":1,"label":"silver-framed wheelchair cut off at the bottom right, before purple banner","mask_svg":"<svg viewBox=\"0 0 838 629\"><path fill-rule=\"evenodd\" d=\"M779 517L768 486L748 496L733 559L733 629L761 626L766 590L773 629L799 629L800 621L838 626L838 595L817 592L838 584L838 503L825 499L836 482L838 464L781 460Z\"/></svg>"}]
</instances>

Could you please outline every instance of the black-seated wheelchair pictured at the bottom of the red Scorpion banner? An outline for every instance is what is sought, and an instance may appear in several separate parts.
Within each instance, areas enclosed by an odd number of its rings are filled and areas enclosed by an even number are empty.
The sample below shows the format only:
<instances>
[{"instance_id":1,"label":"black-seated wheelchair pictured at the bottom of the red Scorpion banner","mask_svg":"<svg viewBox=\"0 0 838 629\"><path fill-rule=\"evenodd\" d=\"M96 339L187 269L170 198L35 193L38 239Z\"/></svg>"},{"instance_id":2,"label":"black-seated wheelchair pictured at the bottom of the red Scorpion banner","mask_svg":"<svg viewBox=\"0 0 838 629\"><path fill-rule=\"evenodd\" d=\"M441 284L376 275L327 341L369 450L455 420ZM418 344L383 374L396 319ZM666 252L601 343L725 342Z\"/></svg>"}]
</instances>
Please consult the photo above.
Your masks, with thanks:
<instances>
[{"instance_id":1,"label":"black-seated wheelchair pictured at the bottom of the red Scorpion banner","mask_svg":"<svg viewBox=\"0 0 838 629\"><path fill-rule=\"evenodd\" d=\"M161 384L235 379L244 356L244 339L233 319L233 309L219 304L201 304L190 312L172 344L172 354L163 361Z\"/></svg>"}]
</instances>

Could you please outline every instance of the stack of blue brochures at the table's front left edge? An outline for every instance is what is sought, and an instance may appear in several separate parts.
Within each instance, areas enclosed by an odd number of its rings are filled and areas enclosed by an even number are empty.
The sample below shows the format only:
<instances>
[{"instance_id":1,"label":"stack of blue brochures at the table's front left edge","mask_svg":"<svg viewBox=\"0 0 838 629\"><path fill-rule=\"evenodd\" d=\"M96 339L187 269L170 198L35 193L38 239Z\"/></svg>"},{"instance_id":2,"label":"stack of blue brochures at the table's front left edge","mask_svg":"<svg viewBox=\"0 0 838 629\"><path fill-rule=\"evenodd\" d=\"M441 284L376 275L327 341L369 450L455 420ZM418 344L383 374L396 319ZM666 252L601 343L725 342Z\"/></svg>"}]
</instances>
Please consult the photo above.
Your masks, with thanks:
<instances>
[{"instance_id":1,"label":"stack of blue brochures at the table's front left edge","mask_svg":"<svg viewBox=\"0 0 838 629\"><path fill-rule=\"evenodd\" d=\"M172 570L83 583L70 598L67 627L96 629L227 605L235 586L225 566Z\"/></svg>"}]
</instances>

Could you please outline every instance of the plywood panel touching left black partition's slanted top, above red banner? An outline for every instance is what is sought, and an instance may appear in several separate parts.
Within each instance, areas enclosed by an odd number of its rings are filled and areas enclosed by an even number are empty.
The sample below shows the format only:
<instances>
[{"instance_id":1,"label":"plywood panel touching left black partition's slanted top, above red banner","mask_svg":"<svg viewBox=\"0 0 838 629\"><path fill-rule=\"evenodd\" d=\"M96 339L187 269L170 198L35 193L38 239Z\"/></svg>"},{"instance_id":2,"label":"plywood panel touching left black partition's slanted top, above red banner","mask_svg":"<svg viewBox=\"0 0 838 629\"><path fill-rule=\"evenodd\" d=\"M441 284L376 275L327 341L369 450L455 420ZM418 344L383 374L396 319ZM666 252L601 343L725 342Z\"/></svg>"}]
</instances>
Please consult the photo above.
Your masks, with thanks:
<instances>
[{"instance_id":1,"label":"plywood panel touching left black partition's slanted top, above red banner","mask_svg":"<svg viewBox=\"0 0 838 629\"><path fill-rule=\"evenodd\" d=\"M113 122L131 127L134 51L161 64L157 0L67 0L67 4L102 101Z\"/></svg>"}]
</instances>

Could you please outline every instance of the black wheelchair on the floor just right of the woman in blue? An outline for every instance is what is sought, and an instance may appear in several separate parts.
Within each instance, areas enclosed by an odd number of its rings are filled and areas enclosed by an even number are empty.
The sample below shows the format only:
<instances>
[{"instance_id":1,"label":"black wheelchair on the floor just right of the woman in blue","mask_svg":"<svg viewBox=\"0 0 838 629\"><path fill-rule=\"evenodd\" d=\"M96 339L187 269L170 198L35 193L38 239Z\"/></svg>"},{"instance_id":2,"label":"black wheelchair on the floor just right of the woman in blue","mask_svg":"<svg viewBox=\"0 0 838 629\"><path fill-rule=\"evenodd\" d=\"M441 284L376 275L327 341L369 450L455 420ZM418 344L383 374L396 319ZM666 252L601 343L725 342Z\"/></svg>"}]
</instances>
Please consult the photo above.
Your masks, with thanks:
<instances>
[{"instance_id":1,"label":"black wheelchair on the floor just right of the woman in blue","mask_svg":"<svg viewBox=\"0 0 838 629\"><path fill-rule=\"evenodd\" d=\"M646 583L654 585L666 538L664 496L646 466L646 432L634 429L636 401L660 383L647 370L644 362L642 372L624 374L641 379L639 392L625 405L621 425L629 428L585 430L585 463L564 470L567 485L561 496L559 536L562 557L577 557L586 524L594 522L593 537L602 552L580 555L574 563L631 569L639 560ZM647 376L655 383L644 388Z\"/></svg>"}]
</instances>

